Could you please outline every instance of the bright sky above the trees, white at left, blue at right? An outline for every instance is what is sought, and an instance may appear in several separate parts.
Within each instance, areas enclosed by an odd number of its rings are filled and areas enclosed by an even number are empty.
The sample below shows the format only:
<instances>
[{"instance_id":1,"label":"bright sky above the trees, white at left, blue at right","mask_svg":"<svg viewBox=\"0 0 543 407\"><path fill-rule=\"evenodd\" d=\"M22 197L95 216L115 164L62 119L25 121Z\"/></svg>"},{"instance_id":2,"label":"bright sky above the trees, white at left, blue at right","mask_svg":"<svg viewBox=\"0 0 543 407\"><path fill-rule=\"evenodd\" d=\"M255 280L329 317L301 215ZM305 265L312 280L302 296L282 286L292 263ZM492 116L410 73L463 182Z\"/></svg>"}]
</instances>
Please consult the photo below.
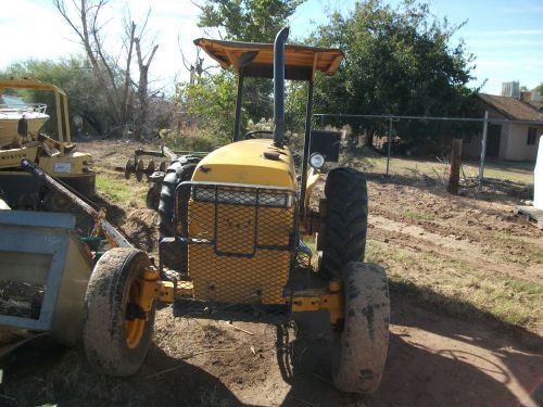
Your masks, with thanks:
<instances>
[{"instance_id":1,"label":"bright sky above the trees, white at left, blue at right","mask_svg":"<svg viewBox=\"0 0 543 407\"><path fill-rule=\"evenodd\" d=\"M195 58L192 39L203 35L195 25L198 8L189 0L111 0L104 11L110 49L121 47L116 38L127 4L137 21L152 5L148 38L160 43L151 66L154 85L168 88L175 80L186 79L179 48L189 61ZM307 0L292 18L293 35L303 37L316 24L326 22L327 11L346 13L353 4L354 0ZM503 81L519 80L530 89L543 81L543 0L432 0L430 9L453 24L467 20L454 41L463 38L477 58L477 79L471 86L488 79L482 91L498 94ZM73 33L49 0L2 0L0 38L0 68L17 60L56 59L79 52Z\"/></svg>"}]
</instances>

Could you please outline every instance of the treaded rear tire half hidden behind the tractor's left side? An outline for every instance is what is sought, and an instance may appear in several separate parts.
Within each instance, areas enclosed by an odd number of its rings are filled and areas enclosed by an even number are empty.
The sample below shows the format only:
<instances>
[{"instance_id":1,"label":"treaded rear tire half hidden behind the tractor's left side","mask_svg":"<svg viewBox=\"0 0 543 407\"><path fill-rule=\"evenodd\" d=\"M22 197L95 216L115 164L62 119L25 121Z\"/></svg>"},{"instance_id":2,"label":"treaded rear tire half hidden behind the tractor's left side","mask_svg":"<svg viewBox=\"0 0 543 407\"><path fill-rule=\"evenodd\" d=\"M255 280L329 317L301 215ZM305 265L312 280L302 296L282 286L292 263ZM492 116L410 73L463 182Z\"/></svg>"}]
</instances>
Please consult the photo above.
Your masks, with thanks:
<instances>
[{"instance_id":1,"label":"treaded rear tire half hidden behind the tractor's left side","mask_svg":"<svg viewBox=\"0 0 543 407\"><path fill-rule=\"evenodd\" d=\"M191 157L191 160L194 160ZM176 188L179 183L190 181L197 164L188 163L186 157L172 163L166 170L166 176L162 183L160 203L159 203L159 241L163 238L173 237L175 234L174 209ZM188 196L187 196L188 200ZM180 202L180 212L187 206L186 200ZM185 209L185 213L187 211ZM182 221L182 220L181 220ZM167 268L185 272L187 269L187 244L175 242L172 244L161 244L160 255L161 264Z\"/></svg>"}]
</instances>

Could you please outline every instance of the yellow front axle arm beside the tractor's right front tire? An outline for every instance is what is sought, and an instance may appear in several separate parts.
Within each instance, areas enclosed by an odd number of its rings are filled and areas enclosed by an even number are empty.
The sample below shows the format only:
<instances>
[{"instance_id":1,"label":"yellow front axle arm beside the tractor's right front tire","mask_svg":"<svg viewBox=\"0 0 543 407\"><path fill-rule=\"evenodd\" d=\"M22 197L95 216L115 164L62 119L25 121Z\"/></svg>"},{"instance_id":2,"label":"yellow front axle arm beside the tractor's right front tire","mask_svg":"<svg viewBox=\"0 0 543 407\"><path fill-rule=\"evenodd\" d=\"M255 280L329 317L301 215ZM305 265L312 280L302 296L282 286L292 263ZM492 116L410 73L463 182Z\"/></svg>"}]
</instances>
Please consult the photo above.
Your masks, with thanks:
<instances>
[{"instance_id":1,"label":"yellow front axle arm beside the tractor's right front tire","mask_svg":"<svg viewBox=\"0 0 543 407\"><path fill-rule=\"evenodd\" d=\"M343 305L343 291L340 281L331 281L327 292L302 291L294 293L291 300L293 313L327 309L331 325L337 325L344 317Z\"/></svg>"}]
</instances>

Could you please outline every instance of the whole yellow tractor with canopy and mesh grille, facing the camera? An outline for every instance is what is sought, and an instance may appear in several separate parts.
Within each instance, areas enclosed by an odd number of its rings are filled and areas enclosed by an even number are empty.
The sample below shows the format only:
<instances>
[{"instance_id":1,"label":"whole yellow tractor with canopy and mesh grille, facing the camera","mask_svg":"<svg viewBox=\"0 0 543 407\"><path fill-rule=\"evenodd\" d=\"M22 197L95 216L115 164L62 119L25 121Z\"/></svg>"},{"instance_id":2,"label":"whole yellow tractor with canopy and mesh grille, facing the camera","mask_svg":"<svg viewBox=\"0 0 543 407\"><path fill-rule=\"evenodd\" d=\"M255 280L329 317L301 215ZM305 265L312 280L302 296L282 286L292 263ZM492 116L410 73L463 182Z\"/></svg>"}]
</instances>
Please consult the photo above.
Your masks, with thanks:
<instances>
[{"instance_id":1,"label":"whole yellow tractor with canopy and mesh grille, facing the camera","mask_svg":"<svg viewBox=\"0 0 543 407\"><path fill-rule=\"evenodd\" d=\"M130 246L108 251L94 266L83 342L97 370L136 372L152 340L155 303L175 298L176 315L198 318L279 322L296 313L327 310L334 332L334 385L353 393L378 387L390 301L384 270L363 263L364 174L330 170L319 211L310 209L319 168L337 160L339 151L337 133L311 130L314 76L317 71L333 75L343 54L288 46L288 28L279 31L274 44L195 41L223 68L233 66L239 74L233 140L203 158L178 156L165 171L159 205L161 270ZM248 133L240 140L244 77L274 79L270 138ZM285 140L286 78L308 82L300 178ZM311 236L319 262L311 262L302 239ZM176 270L173 281L165 281L164 263Z\"/></svg>"}]
</instances>

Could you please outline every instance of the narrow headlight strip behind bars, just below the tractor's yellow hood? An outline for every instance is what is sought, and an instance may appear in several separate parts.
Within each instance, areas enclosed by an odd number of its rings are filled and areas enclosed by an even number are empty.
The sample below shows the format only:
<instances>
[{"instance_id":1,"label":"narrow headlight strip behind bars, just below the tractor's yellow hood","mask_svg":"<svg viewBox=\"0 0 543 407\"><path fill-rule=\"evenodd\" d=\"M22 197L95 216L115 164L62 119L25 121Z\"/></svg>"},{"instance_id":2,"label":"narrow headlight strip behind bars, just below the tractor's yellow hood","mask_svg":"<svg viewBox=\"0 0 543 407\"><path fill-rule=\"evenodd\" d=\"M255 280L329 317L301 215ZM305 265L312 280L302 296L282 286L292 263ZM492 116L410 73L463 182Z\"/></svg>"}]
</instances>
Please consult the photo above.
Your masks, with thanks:
<instances>
[{"instance_id":1,"label":"narrow headlight strip behind bars, just below the tractor's yellow hood","mask_svg":"<svg viewBox=\"0 0 543 407\"><path fill-rule=\"evenodd\" d=\"M291 207L292 194L195 187L194 201L229 205Z\"/></svg>"}]
</instances>

